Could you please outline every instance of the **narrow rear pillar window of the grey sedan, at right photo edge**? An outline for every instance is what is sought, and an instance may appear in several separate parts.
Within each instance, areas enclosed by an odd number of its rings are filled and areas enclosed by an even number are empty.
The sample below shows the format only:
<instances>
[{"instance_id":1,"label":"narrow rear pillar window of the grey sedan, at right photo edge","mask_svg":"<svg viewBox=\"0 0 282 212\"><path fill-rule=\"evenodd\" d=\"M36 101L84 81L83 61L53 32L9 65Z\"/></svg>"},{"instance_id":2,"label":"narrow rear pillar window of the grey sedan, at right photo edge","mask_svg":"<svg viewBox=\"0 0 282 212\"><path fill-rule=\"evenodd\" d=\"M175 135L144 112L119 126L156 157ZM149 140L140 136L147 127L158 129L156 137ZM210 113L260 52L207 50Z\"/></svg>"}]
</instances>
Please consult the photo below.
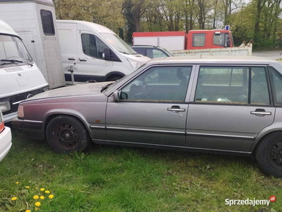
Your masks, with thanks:
<instances>
[{"instance_id":1,"label":"narrow rear pillar window of the grey sedan, at right photo edge","mask_svg":"<svg viewBox=\"0 0 282 212\"><path fill-rule=\"evenodd\" d=\"M274 104L282 105L282 76L273 67L269 67L272 91L274 94Z\"/></svg>"}]
</instances>

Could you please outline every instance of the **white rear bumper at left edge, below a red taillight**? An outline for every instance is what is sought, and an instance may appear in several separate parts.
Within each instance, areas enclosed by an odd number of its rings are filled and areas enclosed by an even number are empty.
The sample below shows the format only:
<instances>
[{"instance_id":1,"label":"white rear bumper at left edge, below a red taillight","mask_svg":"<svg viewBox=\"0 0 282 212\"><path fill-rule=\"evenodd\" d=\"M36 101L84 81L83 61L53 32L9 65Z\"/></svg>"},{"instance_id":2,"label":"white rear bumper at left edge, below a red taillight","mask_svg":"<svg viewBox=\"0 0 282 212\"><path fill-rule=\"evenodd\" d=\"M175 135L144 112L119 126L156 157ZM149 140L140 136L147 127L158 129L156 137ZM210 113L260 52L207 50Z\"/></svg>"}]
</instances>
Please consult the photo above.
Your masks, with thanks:
<instances>
[{"instance_id":1,"label":"white rear bumper at left edge, below a red taillight","mask_svg":"<svg viewBox=\"0 0 282 212\"><path fill-rule=\"evenodd\" d=\"M0 134L0 161L5 158L12 146L11 129L5 127L4 131Z\"/></svg>"}]
</instances>

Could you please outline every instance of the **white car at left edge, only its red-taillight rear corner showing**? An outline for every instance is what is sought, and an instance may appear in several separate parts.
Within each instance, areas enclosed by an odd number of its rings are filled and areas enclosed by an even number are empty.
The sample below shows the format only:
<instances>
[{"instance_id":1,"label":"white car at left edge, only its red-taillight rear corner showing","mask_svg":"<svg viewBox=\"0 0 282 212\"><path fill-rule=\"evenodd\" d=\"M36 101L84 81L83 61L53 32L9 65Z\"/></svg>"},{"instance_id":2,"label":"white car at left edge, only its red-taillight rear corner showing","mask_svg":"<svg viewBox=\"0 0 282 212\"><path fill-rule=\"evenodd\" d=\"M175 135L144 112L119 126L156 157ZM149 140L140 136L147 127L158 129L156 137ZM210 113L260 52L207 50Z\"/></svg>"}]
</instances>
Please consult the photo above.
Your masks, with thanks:
<instances>
[{"instance_id":1,"label":"white car at left edge, only its red-taillight rear corner showing","mask_svg":"<svg viewBox=\"0 0 282 212\"><path fill-rule=\"evenodd\" d=\"M4 119L0 110L0 161L7 155L12 146L11 129L4 125Z\"/></svg>"}]
</instances>

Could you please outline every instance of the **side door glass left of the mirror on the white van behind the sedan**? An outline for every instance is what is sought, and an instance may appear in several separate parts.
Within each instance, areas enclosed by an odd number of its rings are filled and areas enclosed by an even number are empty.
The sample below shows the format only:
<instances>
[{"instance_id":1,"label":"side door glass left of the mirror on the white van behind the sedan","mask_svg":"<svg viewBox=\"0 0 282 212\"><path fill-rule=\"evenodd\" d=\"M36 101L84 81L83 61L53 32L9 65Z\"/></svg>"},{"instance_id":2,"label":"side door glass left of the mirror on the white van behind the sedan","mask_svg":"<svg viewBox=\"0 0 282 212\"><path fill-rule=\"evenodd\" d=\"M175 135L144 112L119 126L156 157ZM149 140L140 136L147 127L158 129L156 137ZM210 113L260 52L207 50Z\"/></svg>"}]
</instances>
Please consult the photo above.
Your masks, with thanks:
<instances>
[{"instance_id":1,"label":"side door glass left of the mirror on the white van behind the sedan","mask_svg":"<svg viewBox=\"0 0 282 212\"><path fill-rule=\"evenodd\" d=\"M83 53L90 57L98 58L96 37L90 34L82 34L81 41Z\"/></svg>"}]
</instances>

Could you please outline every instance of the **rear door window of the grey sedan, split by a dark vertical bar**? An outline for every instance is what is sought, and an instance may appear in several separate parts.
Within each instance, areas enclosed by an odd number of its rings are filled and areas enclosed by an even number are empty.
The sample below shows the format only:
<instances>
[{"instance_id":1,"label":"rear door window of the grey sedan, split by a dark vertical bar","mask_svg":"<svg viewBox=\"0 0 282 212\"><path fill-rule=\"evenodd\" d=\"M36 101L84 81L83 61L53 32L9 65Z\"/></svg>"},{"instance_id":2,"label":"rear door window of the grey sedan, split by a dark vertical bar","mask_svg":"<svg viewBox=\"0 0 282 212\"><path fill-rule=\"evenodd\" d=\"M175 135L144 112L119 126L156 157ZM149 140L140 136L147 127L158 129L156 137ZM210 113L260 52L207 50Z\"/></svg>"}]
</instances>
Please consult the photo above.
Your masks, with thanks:
<instances>
[{"instance_id":1,"label":"rear door window of the grey sedan, split by a dark vertical bar","mask_svg":"<svg viewBox=\"0 0 282 212\"><path fill-rule=\"evenodd\" d=\"M265 69L247 66L202 66L195 101L269 105Z\"/></svg>"}]
</instances>

